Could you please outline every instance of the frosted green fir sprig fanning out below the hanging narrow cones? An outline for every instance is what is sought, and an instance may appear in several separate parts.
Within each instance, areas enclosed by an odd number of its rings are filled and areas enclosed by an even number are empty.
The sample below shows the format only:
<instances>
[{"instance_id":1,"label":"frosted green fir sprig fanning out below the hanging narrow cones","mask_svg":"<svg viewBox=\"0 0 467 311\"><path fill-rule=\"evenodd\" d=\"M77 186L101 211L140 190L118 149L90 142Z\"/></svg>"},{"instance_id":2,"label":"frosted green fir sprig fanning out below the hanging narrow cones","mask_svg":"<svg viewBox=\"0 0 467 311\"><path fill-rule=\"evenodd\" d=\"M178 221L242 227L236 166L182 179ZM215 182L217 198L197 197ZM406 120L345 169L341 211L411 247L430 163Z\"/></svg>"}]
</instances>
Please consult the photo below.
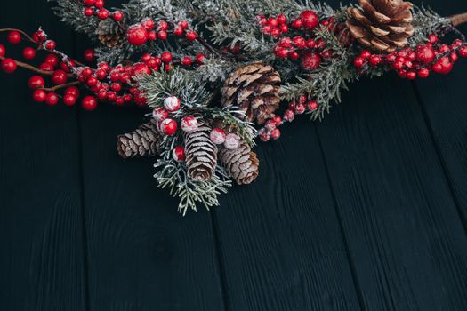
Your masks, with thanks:
<instances>
[{"instance_id":1,"label":"frosted green fir sprig fanning out below the hanging narrow cones","mask_svg":"<svg viewBox=\"0 0 467 311\"><path fill-rule=\"evenodd\" d=\"M218 206L218 195L227 193L232 186L227 173L217 165L213 179L208 181L193 181L188 177L187 166L173 160L172 150L179 144L177 137L165 137L162 144L164 151L154 167L159 171L154 175L158 187L168 188L173 197L179 197L178 211L185 216L187 211L197 211L197 203L201 203L207 210Z\"/></svg>"}]
</instances>

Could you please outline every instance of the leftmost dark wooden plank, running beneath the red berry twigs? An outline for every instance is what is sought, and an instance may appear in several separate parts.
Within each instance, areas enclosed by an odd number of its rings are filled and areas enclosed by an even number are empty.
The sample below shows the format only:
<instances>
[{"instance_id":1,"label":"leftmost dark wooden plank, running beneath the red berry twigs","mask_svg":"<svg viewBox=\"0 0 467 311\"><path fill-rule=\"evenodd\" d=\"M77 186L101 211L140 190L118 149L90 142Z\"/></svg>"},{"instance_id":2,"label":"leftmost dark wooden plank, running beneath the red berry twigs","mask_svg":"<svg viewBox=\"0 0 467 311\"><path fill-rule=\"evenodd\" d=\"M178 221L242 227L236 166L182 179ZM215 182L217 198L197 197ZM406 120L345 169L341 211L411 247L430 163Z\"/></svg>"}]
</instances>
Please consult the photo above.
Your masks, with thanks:
<instances>
[{"instance_id":1,"label":"leftmost dark wooden plank, running beneath the red berry twigs","mask_svg":"<svg viewBox=\"0 0 467 311\"><path fill-rule=\"evenodd\" d=\"M71 51L71 31L59 23L40 1L26 10L23 2L3 3L0 10L1 28L32 32L42 25ZM5 46L21 59L20 47ZM84 310L76 111L33 102L29 76L20 69L0 75L0 309Z\"/></svg>"}]
</instances>

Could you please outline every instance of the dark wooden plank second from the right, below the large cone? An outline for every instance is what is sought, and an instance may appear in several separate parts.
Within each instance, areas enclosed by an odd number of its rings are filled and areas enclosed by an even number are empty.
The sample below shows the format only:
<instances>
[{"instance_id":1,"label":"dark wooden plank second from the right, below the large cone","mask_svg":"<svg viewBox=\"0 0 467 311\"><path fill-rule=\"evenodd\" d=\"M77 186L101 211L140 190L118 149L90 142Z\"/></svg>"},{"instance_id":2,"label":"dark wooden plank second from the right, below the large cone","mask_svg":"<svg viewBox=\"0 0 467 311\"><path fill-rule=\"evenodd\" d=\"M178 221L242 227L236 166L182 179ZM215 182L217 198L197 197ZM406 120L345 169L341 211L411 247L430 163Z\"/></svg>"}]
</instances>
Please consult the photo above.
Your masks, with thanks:
<instances>
[{"instance_id":1,"label":"dark wooden plank second from the right, below the large cone","mask_svg":"<svg viewBox=\"0 0 467 311\"><path fill-rule=\"evenodd\" d=\"M467 239L411 85L363 79L318 133L365 309L464 310Z\"/></svg>"}]
</instances>

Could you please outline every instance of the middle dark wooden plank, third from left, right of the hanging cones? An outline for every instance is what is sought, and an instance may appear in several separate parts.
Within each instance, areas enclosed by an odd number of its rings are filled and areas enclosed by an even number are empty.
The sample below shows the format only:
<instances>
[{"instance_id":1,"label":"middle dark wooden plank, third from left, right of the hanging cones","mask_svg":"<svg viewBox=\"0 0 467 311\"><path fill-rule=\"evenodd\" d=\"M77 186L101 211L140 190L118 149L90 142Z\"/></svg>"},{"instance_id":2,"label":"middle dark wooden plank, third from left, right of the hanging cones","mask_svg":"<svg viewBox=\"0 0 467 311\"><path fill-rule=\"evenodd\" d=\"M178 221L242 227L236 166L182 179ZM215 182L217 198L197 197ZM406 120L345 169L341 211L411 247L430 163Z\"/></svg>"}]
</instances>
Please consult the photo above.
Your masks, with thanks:
<instances>
[{"instance_id":1,"label":"middle dark wooden plank, third from left, right of the hanging cones","mask_svg":"<svg viewBox=\"0 0 467 311\"><path fill-rule=\"evenodd\" d=\"M358 310L316 132L294 122L261 144L260 176L215 210L231 310Z\"/></svg>"}]
</instances>

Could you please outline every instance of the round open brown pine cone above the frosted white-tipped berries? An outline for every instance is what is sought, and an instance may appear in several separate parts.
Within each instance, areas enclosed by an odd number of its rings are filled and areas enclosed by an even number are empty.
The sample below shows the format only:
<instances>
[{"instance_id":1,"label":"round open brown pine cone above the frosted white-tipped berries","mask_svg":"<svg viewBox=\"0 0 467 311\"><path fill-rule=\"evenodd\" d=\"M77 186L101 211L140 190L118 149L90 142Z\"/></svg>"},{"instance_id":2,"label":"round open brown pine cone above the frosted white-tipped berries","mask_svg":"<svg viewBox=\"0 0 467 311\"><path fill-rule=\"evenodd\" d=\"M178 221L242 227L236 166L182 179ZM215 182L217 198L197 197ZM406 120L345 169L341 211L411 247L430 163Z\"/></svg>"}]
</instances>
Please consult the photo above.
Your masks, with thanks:
<instances>
[{"instance_id":1,"label":"round open brown pine cone above the frosted white-tipped berries","mask_svg":"<svg viewBox=\"0 0 467 311\"><path fill-rule=\"evenodd\" d=\"M279 108L280 76L271 66L254 63L239 68L229 76L222 88L223 107L238 106L246 119L263 124Z\"/></svg>"}]
</instances>

